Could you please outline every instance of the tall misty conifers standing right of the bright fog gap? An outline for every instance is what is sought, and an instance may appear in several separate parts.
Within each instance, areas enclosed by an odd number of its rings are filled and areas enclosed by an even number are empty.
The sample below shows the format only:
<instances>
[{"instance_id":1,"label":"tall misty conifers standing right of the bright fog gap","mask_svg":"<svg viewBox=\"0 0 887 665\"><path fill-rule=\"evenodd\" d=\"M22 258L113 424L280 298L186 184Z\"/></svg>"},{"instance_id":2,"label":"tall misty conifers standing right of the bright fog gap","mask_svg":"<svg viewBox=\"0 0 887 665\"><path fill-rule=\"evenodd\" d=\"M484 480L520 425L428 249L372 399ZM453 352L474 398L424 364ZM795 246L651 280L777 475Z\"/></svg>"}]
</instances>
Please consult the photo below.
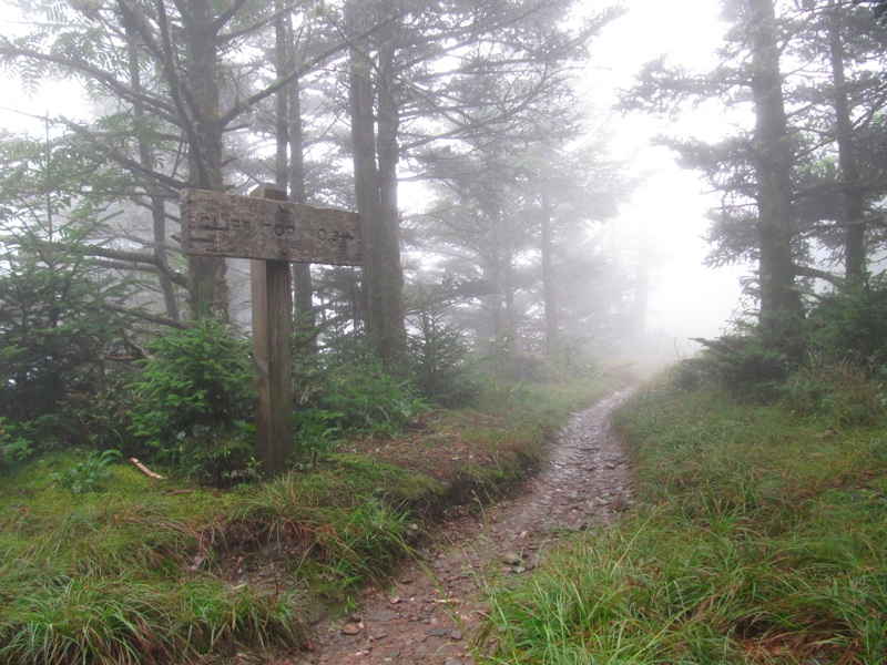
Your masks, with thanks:
<instances>
[{"instance_id":1,"label":"tall misty conifers standing right of the bright fog gap","mask_svg":"<svg viewBox=\"0 0 887 665\"><path fill-rule=\"evenodd\" d=\"M805 300L860 282L883 252L884 53L877 3L724 3L710 71L650 63L626 109L680 112L714 102L732 113L716 144L663 137L720 193L712 265L748 262L767 346L798 358ZM815 299L815 298L814 298Z\"/></svg>"}]
</instances>

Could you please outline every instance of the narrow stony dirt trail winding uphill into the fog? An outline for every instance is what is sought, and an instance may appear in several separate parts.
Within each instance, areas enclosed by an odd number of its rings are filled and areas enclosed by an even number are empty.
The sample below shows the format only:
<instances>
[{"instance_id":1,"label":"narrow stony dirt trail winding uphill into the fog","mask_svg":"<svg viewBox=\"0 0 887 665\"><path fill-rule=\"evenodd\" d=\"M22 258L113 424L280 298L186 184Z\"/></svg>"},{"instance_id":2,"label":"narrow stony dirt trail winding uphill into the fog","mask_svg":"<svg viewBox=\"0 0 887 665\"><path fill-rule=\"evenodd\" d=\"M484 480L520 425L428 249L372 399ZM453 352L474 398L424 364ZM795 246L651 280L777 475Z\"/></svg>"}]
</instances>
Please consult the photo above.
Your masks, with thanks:
<instances>
[{"instance_id":1,"label":"narrow stony dirt trail winding uphill into the fog","mask_svg":"<svg viewBox=\"0 0 887 665\"><path fill-rule=\"evenodd\" d=\"M610 395L573 416L546 469L513 500L450 511L420 561L391 587L369 591L351 616L316 626L316 651L287 662L473 664L467 636L488 608L483 586L531 571L565 532L631 508L631 462L609 429L628 395Z\"/></svg>"}]
</instances>

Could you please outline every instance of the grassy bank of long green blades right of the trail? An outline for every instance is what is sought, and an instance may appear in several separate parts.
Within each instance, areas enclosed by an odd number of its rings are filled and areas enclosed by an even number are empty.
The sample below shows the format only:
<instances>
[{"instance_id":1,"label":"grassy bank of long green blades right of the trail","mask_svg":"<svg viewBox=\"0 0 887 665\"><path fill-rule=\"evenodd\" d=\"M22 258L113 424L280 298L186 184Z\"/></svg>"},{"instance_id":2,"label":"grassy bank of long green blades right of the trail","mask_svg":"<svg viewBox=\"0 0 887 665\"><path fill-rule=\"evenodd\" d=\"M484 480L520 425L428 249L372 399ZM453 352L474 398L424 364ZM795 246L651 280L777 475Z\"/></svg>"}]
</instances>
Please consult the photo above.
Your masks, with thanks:
<instances>
[{"instance_id":1,"label":"grassy bank of long green blades right of the trail","mask_svg":"<svg viewBox=\"0 0 887 665\"><path fill-rule=\"evenodd\" d=\"M636 509L493 594L489 662L887 662L885 420L830 395L639 392Z\"/></svg>"}]
</instances>

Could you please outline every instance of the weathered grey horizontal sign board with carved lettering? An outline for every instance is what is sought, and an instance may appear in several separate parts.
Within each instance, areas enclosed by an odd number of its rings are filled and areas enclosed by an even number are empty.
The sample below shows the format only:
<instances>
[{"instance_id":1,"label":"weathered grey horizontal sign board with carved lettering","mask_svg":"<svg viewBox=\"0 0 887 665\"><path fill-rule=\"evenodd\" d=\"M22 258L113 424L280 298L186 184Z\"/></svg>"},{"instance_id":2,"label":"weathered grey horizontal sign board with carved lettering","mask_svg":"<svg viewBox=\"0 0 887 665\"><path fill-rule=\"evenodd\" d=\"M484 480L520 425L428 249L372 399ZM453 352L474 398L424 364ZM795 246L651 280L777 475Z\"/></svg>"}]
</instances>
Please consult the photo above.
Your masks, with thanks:
<instances>
[{"instance_id":1,"label":"weathered grey horizontal sign board with carved lettering","mask_svg":"<svg viewBox=\"0 0 887 665\"><path fill-rule=\"evenodd\" d=\"M184 190L182 252L357 266L360 216L283 201Z\"/></svg>"}]
</instances>

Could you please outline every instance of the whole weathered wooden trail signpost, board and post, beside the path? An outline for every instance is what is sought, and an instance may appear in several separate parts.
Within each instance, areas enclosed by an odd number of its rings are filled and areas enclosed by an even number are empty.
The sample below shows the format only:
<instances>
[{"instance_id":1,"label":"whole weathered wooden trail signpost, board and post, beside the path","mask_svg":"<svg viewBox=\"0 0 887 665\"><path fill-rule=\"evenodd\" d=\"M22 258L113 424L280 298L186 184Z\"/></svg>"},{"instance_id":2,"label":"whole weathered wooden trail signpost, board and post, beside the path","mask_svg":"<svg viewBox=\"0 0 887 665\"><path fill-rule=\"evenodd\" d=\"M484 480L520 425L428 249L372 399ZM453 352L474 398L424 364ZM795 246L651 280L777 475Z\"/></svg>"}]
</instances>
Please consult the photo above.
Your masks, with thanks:
<instances>
[{"instance_id":1,"label":"whole weathered wooden trail signpost, board and post, beside the path","mask_svg":"<svg viewBox=\"0 0 887 665\"><path fill-rule=\"evenodd\" d=\"M286 202L259 185L249 195L182 192L182 252L251 258L253 367L256 374L256 458L268 475L286 470L293 447L289 262L357 266L356 213Z\"/></svg>"}]
</instances>

